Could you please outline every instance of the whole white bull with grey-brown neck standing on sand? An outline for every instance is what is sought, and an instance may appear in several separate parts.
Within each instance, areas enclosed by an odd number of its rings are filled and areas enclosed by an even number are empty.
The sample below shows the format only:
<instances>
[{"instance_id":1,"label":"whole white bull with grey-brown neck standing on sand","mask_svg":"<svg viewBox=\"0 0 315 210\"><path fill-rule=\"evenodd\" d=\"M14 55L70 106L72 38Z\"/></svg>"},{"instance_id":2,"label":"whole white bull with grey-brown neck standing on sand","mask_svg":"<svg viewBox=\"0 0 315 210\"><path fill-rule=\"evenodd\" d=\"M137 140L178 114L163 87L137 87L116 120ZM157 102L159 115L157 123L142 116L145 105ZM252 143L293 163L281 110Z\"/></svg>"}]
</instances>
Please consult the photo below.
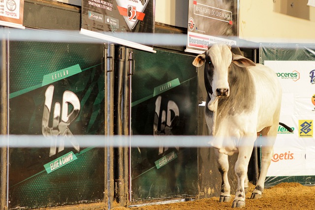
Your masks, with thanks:
<instances>
[{"instance_id":1,"label":"whole white bull with grey-brown neck standing on sand","mask_svg":"<svg viewBox=\"0 0 315 210\"><path fill-rule=\"evenodd\" d=\"M279 124L281 85L270 68L233 54L227 45L213 44L193 61L197 67L203 64L208 92L205 119L222 176L220 202L230 200L227 155L238 152L232 207L244 207L248 164L258 134L268 138L261 149L260 176L251 198L261 198L264 189Z\"/></svg>"}]
</instances>

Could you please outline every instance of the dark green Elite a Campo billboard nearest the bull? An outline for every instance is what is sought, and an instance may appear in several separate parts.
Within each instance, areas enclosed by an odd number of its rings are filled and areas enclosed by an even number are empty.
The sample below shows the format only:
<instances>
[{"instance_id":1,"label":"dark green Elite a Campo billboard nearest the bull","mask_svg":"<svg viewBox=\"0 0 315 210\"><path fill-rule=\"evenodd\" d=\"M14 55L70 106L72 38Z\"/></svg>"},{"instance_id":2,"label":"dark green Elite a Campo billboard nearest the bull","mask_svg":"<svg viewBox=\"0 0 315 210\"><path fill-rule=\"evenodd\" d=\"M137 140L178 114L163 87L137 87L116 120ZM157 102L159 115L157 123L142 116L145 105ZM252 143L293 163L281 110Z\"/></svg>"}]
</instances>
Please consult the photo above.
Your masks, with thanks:
<instances>
[{"instance_id":1,"label":"dark green Elite a Campo billboard nearest the bull","mask_svg":"<svg viewBox=\"0 0 315 210\"><path fill-rule=\"evenodd\" d=\"M134 51L132 135L197 135L194 57ZM132 141L132 140L131 140ZM131 201L198 194L197 148L131 148Z\"/></svg>"}]
</instances>

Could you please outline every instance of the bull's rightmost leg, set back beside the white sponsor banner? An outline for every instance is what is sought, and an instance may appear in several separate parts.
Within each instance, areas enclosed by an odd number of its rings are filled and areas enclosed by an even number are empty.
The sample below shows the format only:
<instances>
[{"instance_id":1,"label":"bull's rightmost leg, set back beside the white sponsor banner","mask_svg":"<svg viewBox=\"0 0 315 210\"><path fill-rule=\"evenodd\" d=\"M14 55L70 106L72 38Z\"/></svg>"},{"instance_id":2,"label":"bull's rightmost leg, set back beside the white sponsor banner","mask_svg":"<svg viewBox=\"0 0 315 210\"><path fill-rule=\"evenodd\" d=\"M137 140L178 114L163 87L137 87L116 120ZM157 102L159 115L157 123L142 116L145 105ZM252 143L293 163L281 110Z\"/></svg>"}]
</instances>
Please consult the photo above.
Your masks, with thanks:
<instances>
[{"instance_id":1,"label":"bull's rightmost leg, set back beside the white sponsor banner","mask_svg":"<svg viewBox=\"0 0 315 210\"><path fill-rule=\"evenodd\" d=\"M263 146L261 147L261 170L251 199L260 199L265 186L265 179L273 156L273 145L276 140L278 126L266 127L261 131Z\"/></svg>"}]
</instances>

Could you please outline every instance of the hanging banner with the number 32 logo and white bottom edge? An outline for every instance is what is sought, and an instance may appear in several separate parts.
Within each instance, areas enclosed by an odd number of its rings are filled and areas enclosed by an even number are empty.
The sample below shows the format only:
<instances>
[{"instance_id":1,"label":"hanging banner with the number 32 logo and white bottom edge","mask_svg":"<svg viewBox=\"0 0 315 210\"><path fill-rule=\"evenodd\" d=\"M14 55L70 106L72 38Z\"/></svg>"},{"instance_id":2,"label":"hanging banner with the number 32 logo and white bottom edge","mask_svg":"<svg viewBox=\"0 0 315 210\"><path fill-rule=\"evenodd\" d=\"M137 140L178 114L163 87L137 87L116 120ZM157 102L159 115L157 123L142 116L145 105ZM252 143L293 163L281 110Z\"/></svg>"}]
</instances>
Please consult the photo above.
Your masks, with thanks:
<instances>
[{"instance_id":1,"label":"hanging banner with the number 32 logo and white bottom edge","mask_svg":"<svg viewBox=\"0 0 315 210\"><path fill-rule=\"evenodd\" d=\"M153 51L115 33L153 33L155 0L83 0L81 9L81 33L128 47Z\"/></svg>"}]
</instances>

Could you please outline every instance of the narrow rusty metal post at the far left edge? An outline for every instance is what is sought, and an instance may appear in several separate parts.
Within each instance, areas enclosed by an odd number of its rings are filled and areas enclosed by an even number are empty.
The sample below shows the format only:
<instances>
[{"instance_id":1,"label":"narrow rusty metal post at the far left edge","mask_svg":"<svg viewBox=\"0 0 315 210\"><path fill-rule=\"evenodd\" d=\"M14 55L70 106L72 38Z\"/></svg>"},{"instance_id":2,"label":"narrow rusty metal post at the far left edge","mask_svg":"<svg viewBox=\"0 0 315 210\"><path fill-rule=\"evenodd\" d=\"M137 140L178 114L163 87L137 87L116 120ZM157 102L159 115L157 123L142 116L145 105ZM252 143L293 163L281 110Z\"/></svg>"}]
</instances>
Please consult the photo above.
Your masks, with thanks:
<instances>
[{"instance_id":1,"label":"narrow rusty metal post at the far left edge","mask_svg":"<svg viewBox=\"0 0 315 210\"><path fill-rule=\"evenodd\" d=\"M1 28L1 30L6 30ZM7 39L2 35L0 40L0 135L7 135ZM1 139L3 141L3 139ZM7 209L7 147L0 148L0 209Z\"/></svg>"}]
</instances>

